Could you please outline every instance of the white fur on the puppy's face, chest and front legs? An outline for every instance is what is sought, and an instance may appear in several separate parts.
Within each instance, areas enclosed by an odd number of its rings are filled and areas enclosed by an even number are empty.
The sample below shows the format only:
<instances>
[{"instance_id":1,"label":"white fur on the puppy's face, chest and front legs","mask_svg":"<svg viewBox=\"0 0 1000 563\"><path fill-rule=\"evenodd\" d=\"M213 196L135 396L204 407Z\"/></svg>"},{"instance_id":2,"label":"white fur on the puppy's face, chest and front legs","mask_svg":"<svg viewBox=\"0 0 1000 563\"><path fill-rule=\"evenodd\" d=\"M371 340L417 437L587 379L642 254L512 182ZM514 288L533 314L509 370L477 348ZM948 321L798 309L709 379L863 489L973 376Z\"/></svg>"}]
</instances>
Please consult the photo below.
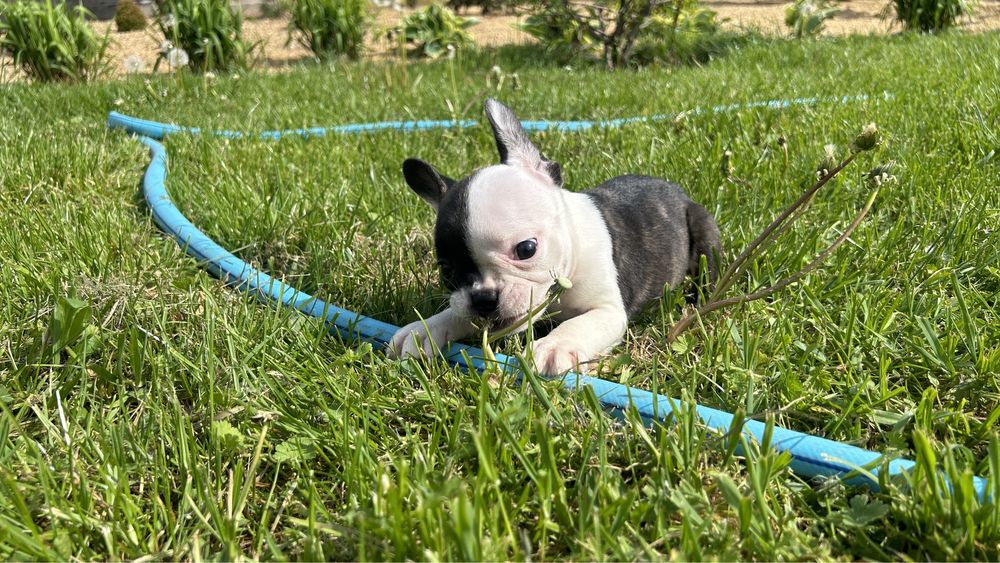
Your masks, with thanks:
<instances>
[{"instance_id":1,"label":"white fur on the puppy's face, chest and front legs","mask_svg":"<svg viewBox=\"0 0 1000 563\"><path fill-rule=\"evenodd\" d=\"M530 146L530 145L529 145ZM535 368L560 374L605 352L625 334L627 315L618 289L611 236L597 207L565 191L534 167L490 166L469 186L468 243L483 280L452 294L451 307L403 327L390 343L398 357L430 353L431 343L470 335L470 289L497 289L499 316L523 317L542 302L556 277L573 282L558 304L561 320L535 343ZM514 248L537 240L535 255L518 260Z\"/></svg>"}]
</instances>

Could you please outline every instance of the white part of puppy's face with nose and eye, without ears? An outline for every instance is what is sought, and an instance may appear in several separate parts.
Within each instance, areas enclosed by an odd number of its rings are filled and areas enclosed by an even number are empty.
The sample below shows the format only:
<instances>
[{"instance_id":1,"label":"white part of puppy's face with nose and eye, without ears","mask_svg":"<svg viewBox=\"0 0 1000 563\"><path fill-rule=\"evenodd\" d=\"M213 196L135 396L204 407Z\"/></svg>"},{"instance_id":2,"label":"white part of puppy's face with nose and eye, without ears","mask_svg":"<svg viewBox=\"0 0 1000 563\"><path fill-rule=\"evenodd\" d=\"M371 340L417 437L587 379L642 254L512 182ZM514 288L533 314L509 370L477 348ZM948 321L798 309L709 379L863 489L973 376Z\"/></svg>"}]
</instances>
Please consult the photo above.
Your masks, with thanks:
<instances>
[{"instance_id":1,"label":"white part of puppy's face with nose and eye, without ears","mask_svg":"<svg viewBox=\"0 0 1000 563\"><path fill-rule=\"evenodd\" d=\"M464 217L452 219L464 223L468 260L449 253L448 245L438 260L445 271L471 262L478 275L455 280L451 306L465 318L506 325L544 301L554 279L569 273L573 239L563 192L545 174L503 164L474 174L467 190L466 209L454 210Z\"/></svg>"}]
</instances>

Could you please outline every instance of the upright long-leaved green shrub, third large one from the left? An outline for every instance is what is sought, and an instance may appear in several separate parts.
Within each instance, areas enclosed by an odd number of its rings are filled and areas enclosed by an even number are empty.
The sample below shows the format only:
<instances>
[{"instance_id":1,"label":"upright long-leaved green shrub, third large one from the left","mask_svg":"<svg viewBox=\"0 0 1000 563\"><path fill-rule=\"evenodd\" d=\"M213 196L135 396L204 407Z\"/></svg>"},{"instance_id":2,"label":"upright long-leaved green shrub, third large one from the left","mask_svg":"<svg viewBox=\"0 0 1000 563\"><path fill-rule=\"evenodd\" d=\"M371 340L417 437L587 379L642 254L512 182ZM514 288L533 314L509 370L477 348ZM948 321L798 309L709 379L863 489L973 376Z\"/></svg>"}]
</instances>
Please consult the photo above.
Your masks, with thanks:
<instances>
[{"instance_id":1,"label":"upright long-leaved green shrub, third large one from the left","mask_svg":"<svg viewBox=\"0 0 1000 563\"><path fill-rule=\"evenodd\" d=\"M305 48L326 58L347 55L358 58L368 28L367 0L295 0L289 22Z\"/></svg>"}]
</instances>

